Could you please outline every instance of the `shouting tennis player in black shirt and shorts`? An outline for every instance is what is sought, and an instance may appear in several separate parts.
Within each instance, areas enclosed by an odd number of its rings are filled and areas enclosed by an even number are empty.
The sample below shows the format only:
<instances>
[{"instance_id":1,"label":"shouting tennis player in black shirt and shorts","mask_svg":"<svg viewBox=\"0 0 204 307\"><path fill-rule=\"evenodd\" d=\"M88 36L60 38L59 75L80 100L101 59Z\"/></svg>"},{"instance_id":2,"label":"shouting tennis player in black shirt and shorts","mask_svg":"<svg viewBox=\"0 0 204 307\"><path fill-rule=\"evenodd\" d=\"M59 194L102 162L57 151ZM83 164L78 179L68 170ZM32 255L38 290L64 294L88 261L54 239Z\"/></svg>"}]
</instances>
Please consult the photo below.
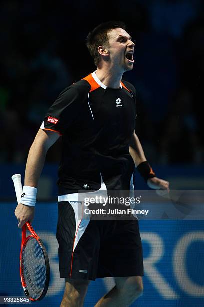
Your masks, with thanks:
<instances>
[{"instance_id":1,"label":"shouting tennis player in black shirt and shorts","mask_svg":"<svg viewBox=\"0 0 204 307\"><path fill-rule=\"evenodd\" d=\"M128 306L143 291L138 220L92 220L78 216L78 191L127 190L134 167L153 189L169 189L147 162L134 132L136 92L122 80L133 68L134 43L123 22L106 22L87 37L97 70L64 89L50 107L30 148L21 203L22 227L34 217L38 180L47 150L62 137L58 224L61 306L82 306L90 280L115 278L96 304Z\"/></svg>"}]
</instances>

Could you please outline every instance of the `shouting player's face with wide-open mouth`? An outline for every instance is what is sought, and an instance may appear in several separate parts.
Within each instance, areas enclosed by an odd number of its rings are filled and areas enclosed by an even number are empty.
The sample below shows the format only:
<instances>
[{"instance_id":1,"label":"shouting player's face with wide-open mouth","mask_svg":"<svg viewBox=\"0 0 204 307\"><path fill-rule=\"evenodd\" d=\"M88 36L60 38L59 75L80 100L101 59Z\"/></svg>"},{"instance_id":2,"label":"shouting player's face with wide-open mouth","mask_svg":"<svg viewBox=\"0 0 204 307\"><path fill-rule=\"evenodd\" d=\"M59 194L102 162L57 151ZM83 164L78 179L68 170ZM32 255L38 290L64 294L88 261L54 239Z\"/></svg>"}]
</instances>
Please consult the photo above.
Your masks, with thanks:
<instances>
[{"instance_id":1,"label":"shouting player's face with wide-open mouth","mask_svg":"<svg viewBox=\"0 0 204 307\"><path fill-rule=\"evenodd\" d=\"M122 71L131 70L134 64L134 43L130 35L122 28L115 28L108 32L107 36L111 64Z\"/></svg>"}]
</instances>

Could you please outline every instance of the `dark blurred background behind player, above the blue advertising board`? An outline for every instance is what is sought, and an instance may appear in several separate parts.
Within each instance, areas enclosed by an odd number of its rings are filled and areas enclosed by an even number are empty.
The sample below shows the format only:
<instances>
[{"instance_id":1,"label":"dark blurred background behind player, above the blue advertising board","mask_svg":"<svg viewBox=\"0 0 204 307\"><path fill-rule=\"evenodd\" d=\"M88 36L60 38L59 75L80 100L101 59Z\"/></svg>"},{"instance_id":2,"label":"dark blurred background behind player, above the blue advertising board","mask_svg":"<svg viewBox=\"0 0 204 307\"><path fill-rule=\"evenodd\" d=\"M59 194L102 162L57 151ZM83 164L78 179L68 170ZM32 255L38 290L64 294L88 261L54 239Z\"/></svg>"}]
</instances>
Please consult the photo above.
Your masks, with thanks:
<instances>
[{"instance_id":1,"label":"dark blurred background behind player, above the blue advertising board","mask_svg":"<svg viewBox=\"0 0 204 307\"><path fill-rule=\"evenodd\" d=\"M85 46L88 32L98 23L122 20L135 42L134 68L123 78L137 90L136 132L147 159L159 176L164 172L171 180L166 166L176 167L174 173L181 177L173 188L200 188L200 180L204 181L199 173L204 165L203 6L201 0L129 0L127 4L119 0L106 5L91 0L48 5L1 1L3 173L5 165L20 169L25 164L44 115L60 91L95 70ZM50 149L46 162L53 165L59 159L60 141ZM186 175L194 175L192 168L183 174L179 169L183 166L185 172L187 166L198 170L198 182L188 178L184 183Z\"/></svg>"}]
</instances>

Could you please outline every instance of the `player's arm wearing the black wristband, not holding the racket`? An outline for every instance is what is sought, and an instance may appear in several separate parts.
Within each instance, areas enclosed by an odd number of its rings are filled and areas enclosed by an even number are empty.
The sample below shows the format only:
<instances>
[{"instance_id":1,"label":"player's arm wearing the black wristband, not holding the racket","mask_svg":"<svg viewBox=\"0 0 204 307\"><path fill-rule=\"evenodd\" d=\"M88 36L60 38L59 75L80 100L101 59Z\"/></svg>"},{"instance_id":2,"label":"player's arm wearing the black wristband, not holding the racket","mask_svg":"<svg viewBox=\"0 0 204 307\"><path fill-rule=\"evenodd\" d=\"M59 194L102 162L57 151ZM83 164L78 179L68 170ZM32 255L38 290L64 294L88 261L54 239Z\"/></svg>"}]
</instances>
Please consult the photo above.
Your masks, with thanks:
<instances>
[{"instance_id":1,"label":"player's arm wearing the black wristband, not holding the racket","mask_svg":"<svg viewBox=\"0 0 204 307\"><path fill-rule=\"evenodd\" d=\"M156 177L154 171L146 160L143 148L135 132L133 133L131 138L129 153L134 160L137 170L144 178L149 188L164 189L169 192L169 182Z\"/></svg>"}]
</instances>

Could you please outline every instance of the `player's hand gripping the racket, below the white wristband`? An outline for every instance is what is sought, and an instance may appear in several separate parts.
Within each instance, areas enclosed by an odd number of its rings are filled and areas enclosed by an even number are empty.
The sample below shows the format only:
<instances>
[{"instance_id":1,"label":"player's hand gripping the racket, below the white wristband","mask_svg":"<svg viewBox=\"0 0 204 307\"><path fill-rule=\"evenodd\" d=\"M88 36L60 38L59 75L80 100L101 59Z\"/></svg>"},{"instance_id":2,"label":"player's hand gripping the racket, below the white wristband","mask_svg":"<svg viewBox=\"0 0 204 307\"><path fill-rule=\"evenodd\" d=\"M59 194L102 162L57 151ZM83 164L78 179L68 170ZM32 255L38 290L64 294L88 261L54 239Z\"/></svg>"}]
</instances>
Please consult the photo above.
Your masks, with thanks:
<instances>
[{"instance_id":1,"label":"player's hand gripping the racket, below the white wristband","mask_svg":"<svg viewBox=\"0 0 204 307\"><path fill-rule=\"evenodd\" d=\"M24 223L27 221L32 221L34 218L34 210L35 207L32 206L26 206L23 204L18 204L16 209L15 209L15 216L19 222L18 228L22 228Z\"/></svg>"}]
</instances>

